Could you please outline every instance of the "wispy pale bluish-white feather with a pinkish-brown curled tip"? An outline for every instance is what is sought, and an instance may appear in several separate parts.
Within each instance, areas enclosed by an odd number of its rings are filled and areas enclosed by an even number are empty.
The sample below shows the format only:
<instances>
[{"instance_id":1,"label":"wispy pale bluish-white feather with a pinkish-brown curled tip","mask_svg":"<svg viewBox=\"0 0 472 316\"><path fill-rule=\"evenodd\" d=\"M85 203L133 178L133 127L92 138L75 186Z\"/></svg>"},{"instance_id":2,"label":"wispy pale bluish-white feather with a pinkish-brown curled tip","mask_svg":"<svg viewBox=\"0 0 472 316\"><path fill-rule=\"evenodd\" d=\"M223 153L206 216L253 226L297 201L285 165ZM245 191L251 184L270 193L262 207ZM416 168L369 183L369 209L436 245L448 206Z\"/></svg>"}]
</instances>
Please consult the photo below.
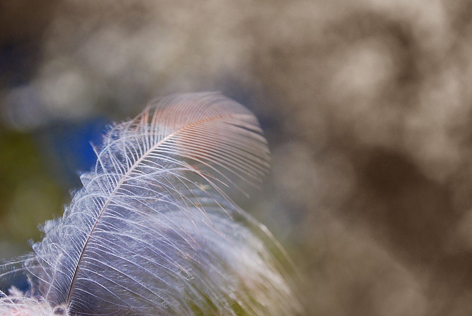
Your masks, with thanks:
<instances>
[{"instance_id":1,"label":"wispy pale bluish-white feather with a pinkish-brown curled tip","mask_svg":"<svg viewBox=\"0 0 472 316\"><path fill-rule=\"evenodd\" d=\"M269 168L249 110L215 92L161 98L96 152L64 215L0 267L30 283L0 292L1 316L302 314L283 249L232 200Z\"/></svg>"}]
</instances>

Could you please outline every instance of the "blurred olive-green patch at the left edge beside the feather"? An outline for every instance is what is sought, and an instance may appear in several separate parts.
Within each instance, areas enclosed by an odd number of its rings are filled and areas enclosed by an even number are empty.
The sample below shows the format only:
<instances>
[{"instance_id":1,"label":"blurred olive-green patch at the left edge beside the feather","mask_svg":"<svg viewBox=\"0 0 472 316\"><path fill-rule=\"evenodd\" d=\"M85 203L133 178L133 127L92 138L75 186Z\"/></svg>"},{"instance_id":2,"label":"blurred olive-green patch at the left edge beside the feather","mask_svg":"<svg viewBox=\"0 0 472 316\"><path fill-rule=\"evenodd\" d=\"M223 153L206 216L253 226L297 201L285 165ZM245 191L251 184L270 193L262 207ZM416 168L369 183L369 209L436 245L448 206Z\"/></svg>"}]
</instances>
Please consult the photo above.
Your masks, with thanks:
<instances>
[{"instance_id":1,"label":"blurred olive-green patch at the left edge beside the feather","mask_svg":"<svg viewBox=\"0 0 472 316\"><path fill-rule=\"evenodd\" d=\"M0 239L40 239L37 225L62 214L64 197L32 135L0 127Z\"/></svg>"}]
</instances>

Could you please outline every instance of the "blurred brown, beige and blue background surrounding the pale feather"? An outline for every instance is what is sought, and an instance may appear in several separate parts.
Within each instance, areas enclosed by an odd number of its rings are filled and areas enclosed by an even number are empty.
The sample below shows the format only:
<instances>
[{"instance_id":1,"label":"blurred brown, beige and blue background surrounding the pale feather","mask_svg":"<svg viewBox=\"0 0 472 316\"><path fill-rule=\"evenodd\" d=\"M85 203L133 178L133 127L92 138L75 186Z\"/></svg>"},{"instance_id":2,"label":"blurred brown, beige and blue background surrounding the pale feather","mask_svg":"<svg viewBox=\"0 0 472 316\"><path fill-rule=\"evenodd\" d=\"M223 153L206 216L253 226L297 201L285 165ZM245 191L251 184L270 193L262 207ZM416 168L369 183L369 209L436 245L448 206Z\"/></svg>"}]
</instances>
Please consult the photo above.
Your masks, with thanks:
<instances>
[{"instance_id":1,"label":"blurred brown, beige and blue background surrounding the pale feather","mask_svg":"<svg viewBox=\"0 0 472 316\"><path fill-rule=\"evenodd\" d=\"M89 142L169 93L259 118L243 207L309 316L472 314L472 2L1 0L0 258L28 251Z\"/></svg>"}]
</instances>

